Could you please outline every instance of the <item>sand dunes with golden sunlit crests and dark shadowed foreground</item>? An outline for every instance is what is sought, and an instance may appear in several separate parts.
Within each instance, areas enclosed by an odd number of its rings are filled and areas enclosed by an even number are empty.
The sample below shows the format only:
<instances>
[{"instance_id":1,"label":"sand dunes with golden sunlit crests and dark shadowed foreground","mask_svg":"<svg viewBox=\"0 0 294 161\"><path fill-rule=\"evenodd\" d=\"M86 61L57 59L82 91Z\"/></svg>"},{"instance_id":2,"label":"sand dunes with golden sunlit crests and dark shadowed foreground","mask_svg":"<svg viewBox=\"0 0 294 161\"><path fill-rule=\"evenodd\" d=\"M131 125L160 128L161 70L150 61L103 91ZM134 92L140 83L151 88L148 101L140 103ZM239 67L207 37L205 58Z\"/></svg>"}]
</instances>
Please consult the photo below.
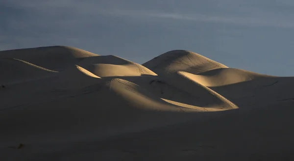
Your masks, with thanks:
<instances>
[{"instance_id":1,"label":"sand dunes with golden sunlit crests and dark shadowed foreground","mask_svg":"<svg viewBox=\"0 0 294 161\"><path fill-rule=\"evenodd\" d=\"M0 85L0 161L294 161L294 77L52 46L0 51Z\"/></svg>"}]
</instances>

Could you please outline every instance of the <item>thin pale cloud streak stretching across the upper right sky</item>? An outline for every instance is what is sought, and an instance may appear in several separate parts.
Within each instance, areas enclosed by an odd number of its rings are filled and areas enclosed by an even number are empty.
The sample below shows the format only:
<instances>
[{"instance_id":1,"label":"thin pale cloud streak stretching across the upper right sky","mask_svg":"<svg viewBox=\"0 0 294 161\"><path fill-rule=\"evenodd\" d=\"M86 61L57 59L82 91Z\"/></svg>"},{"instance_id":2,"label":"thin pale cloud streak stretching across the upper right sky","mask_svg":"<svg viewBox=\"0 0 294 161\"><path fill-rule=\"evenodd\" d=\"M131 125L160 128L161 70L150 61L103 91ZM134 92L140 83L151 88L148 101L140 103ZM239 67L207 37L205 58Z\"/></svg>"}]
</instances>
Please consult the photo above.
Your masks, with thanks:
<instances>
[{"instance_id":1,"label":"thin pale cloud streak stretching across the upper right sky","mask_svg":"<svg viewBox=\"0 0 294 161\"><path fill-rule=\"evenodd\" d=\"M99 13L124 16L133 18L157 18L170 19L174 21L190 21L203 23L226 23L242 26L262 26L262 27L294 27L294 20L285 20L281 17L233 17L233 16L217 16L208 14L187 14L187 13L172 13L158 12L153 10L99 10Z\"/></svg>"}]
</instances>

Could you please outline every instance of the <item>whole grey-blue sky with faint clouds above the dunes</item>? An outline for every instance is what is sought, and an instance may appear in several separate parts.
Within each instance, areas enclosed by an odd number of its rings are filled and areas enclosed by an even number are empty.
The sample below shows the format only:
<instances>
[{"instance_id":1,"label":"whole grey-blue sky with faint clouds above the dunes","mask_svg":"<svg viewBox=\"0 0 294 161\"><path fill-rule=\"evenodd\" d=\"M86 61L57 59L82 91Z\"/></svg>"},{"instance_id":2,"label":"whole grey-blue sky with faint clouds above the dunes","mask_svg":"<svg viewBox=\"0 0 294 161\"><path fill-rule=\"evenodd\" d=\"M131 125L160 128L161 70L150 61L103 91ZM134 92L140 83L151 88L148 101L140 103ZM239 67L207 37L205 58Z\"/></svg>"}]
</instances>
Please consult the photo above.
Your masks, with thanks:
<instances>
[{"instance_id":1,"label":"whole grey-blue sky with faint clouds above the dunes","mask_svg":"<svg viewBox=\"0 0 294 161\"><path fill-rule=\"evenodd\" d=\"M63 45L144 63L188 50L294 76L294 0L0 0L0 51Z\"/></svg>"}]
</instances>

